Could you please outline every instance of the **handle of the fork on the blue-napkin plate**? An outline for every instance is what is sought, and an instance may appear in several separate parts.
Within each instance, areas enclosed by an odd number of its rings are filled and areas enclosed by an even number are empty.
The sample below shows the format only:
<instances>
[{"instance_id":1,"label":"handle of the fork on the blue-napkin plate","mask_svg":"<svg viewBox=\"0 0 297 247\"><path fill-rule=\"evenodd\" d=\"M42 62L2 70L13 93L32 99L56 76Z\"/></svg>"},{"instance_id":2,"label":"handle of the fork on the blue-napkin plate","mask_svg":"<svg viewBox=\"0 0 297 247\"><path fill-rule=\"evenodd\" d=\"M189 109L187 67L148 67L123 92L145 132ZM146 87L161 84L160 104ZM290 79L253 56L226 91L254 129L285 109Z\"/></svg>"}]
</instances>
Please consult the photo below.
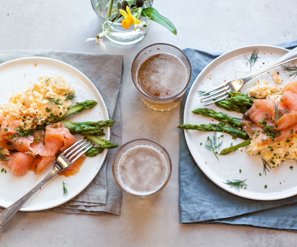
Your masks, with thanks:
<instances>
[{"instance_id":1,"label":"handle of the fork on the blue-napkin plate","mask_svg":"<svg viewBox=\"0 0 297 247\"><path fill-rule=\"evenodd\" d=\"M297 59L297 47L294 48L293 50L289 51L288 53L286 53L285 55L283 55L282 57L280 57L279 59L277 59L276 61L274 61L273 63L267 65L266 67L258 70L257 72L255 73L250 73L248 74L247 76L244 76L242 78L243 80L243 84L248 82L249 80L255 78L257 75L260 75L262 74L263 72L265 71L268 71L274 67L277 67L281 64L284 64L286 62L291 62L293 60Z\"/></svg>"}]
</instances>

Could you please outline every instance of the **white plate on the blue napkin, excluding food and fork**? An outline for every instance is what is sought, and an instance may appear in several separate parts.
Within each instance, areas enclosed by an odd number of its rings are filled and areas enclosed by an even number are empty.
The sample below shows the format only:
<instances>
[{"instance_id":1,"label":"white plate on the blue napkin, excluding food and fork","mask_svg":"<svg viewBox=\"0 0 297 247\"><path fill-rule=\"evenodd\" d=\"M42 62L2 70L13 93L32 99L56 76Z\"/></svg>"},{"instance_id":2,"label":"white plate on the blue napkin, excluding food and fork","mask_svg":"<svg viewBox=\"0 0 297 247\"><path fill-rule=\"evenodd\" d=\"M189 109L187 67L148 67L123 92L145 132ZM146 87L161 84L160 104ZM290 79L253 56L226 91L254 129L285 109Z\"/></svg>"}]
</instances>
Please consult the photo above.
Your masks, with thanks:
<instances>
[{"instance_id":1,"label":"white plate on the blue napkin, excluding food and fork","mask_svg":"<svg viewBox=\"0 0 297 247\"><path fill-rule=\"evenodd\" d=\"M207 65L203 71L197 76L195 82L193 83L185 104L184 110L184 123L188 124L207 124L207 123L217 123L217 121L212 121L212 118L204 117L203 115L197 115L191 111L204 107L200 102L197 90L210 90L211 88L218 86L226 80L227 82L231 79L240 78L244 75L249 74L249 65L245 64L246 60L243 55L249 55L255 49L259 50L258 59L255 65L252 67L252 71L257 71L261 67L274 62L277 58L281 57L287 53L287 49L275 47L275 46L246 46L242 48L229 51L217 59L213 60L209 65ZM271 74L274 70L279 71L279 74L284 79L282 86L294 80L293 77L288 76L281 70L281 67L271 69L269 73L265 72L255 79L248 82L242 88L245 92L246 88L251 87L258 79L266 79L269 83L274 84ZM237 112L228 112L222 108L216 107L215 105L207 106L210 109L215 109L217 111L225 112L234 117L242 117L242 114ZM255 200L277 200L282 198L287 198L297 194L297 167L296 160L286 160L282 162L278 167L271 168L270 172L263 174L263 163L258 155L250 155L245 151L240 150L228 154L225 156L219 156L219 161L216 159L211 151L204 148L204 143L212 132L201 132L196 130L185 130L185 137L187 140L187 145L189 150L195 159L196 163L200 169L211 179L214 183L219 185L219 187L233 193L237 196L255 199ZM217 135L220 136L224 133L218 132ZM223 141L222 147L217 150L221 151L223 148L230 146L231 143L236 145L241 143L243 140L237 138L237 140L232 140L232 137L228 134L224 134L220 140ZM203 143L200 146L200 143ZM293 171L289 167L293 165ZM241 169L241 173L239 173ZM262 176L259 176L259 173ZM230 188L229 185L225 185L223 182L232 179L247 179L247 188L240 188L239 192L235 188ZM267 188L264 188L267 185Z\"/></svg>"}]
</instances>

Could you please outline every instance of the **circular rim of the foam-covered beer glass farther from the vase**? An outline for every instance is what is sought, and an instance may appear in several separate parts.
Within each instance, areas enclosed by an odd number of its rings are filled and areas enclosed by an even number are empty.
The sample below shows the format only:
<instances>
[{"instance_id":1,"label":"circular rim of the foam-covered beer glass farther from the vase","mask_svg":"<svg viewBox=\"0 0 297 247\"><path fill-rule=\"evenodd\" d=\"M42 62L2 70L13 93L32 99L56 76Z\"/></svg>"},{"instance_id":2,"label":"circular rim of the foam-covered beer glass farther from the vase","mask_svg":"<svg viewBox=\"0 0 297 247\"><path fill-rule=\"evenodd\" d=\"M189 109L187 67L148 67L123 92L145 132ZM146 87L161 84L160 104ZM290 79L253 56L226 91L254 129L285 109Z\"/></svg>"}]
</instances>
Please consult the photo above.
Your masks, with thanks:
<instances>
[{"instance_id":1,"label":"circular rim of the foam-covered beer glass farther from the vase","mask_svg":"<svg viewBox=\"0 0 297 247\"><path fill-rule=\"evenodd\" d=\"M157 145L157 146L159 146L159 148L160 149L162 149L162 151L164 151L165 152L165 158L167 158L168 159L168 177L166 178L166 181L165 181L165 183L157 190L157 191L155 191L154 193L151 193L151 194L148 194L148 195L138 195L138 194L135 194L135 193L131 193L131 192L128 192L125 188L123 188L123 186L119 183L119 181L118 181L118 179L116 178L116 171L115 171L115 160L116 160L116 158L119 156L119 154L120 154L120 152L125 148L125 147L127 147L129 144L131 144L131 143L133 143L133 142L136 142L136 141L142 141L142 140L144 140L144 141L148 141L148 142L151 142L151 143L154 143L155 145ZM144 145L146 145L146 144L144 144ZM156 194L158 194L161 190L163 190L164 189L164 187L168 184L168 182L169 182L169 179L170 179L170 177L171 177L171 171L172 171L172 162L171 162L171 158L170 158L170 156L169 156L169 154L168 154L168 151L164 148L164 146L162 146L160 143L158 143L158 142L156 142L156 141L154 141L154 140L152 140L152 139L149 139L149 138L136 138L136 139L132 139L132 140L129 140L129 141L127 141L126 143L124 143L119 149L118 149L118 151L116 152L116 154L115 154L115 156L114 156L114 158L113 158L113 162L112 162L112 173L113 173L113 178L114 178L114 180L115 180L115 182L116 182L116 184L121 188L121 190L123 190L124 192L126 192L126 193L128 193L128 194L130 194L130 195L132 195L132 196L137 196L137 197L142 197L142 198L146 198L146 197L151 197L151 196L154 196L154 195L156 195Z\"/></svg>"}]
</instances>

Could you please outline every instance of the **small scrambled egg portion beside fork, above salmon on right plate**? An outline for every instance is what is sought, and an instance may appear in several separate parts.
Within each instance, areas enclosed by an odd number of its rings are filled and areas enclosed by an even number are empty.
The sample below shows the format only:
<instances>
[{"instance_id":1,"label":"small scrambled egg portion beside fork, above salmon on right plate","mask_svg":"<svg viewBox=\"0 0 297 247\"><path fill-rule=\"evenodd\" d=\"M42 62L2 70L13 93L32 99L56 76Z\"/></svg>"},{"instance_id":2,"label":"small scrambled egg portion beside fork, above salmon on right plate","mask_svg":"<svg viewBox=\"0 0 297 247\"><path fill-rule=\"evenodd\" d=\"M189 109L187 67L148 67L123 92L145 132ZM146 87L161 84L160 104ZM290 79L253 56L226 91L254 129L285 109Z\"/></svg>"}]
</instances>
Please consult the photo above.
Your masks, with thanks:
<instances>
[{"instance_id":1,"label":"small scrambled egg portion beside fork, above salmon on right plate","mask_svg":"<svg viewBox=\"0 0 297 247\"><path fill-rule=\"evenodd\" d=\"M247 93L256 99L265 99L271 95L281 95L283 90L280 86L269 85L268 81L260 79L255 85L247 89Z\"/></svg>"}]
</instances>

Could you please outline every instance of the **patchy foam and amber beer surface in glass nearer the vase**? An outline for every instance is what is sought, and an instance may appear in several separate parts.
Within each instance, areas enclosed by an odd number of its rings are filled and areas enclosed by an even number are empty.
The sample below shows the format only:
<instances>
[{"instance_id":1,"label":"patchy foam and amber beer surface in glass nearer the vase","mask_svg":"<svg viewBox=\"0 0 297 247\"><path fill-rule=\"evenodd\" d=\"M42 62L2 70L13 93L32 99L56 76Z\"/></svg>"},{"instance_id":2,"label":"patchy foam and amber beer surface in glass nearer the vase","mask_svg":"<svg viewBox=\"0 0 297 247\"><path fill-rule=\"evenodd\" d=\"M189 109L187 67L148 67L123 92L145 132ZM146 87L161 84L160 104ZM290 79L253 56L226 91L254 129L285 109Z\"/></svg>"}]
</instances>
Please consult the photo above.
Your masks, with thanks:
<instances>
[{"instance_id":1,"label":"patchy foam and amber beer surface in glass nearer the vase","mask_svg":"<svg viewBox=\"0 0 297 247\"><path fill-rule=\"evenodd\" d=\"M166 52L153 54L138 70L138 83L149 95L165 99L181 92L187 84L188 72L184 63Z\"/></svg>"}]
</instances>

